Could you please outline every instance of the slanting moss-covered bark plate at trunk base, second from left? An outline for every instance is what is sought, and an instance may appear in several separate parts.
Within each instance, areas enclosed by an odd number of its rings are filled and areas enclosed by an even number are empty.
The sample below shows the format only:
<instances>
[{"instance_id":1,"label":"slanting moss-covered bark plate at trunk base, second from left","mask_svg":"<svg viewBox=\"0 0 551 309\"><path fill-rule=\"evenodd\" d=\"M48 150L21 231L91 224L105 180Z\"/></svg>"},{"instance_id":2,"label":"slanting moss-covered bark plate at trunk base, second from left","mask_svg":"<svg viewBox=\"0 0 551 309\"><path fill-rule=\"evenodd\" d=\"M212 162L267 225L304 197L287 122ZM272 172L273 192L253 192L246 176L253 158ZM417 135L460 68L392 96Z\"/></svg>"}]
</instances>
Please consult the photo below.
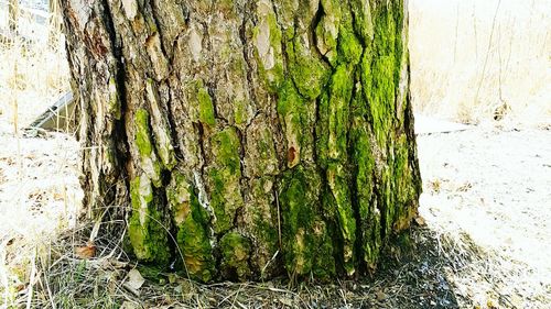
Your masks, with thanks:
<instances>
[{"instance_id":1,"label":"slanting moss-covered bark plate at trunk base, second from left","mask_svg":"<svg viewBox=\"0 0 551 309\"><path fill-rule=\"evenodd\" d=\"M208 236L208 212L201 206L194 187L179 172L172 174L166 199L177 230L176 254L183 255L184 269L193 279L209 282L216 271Z\"/></svg>"}]
</instances>

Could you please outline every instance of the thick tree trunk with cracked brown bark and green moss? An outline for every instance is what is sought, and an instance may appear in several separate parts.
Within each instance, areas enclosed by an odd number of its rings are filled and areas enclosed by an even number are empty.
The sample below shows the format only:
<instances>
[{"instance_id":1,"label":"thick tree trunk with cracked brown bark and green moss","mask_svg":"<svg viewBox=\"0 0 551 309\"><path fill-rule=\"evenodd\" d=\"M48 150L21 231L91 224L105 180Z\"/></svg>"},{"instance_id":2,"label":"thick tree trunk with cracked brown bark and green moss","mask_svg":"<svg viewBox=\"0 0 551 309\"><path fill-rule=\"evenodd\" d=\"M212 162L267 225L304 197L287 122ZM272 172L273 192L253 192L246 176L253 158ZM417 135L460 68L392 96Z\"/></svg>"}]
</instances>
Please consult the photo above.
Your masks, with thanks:
<instances>
[{"instance_id":1,"label":"thick tree trunk with cracked brown bark and green moss","mask_svg":"<svg viewBox=\"0 0 551 309\"><path fill-rule=\"evenodd\" d=\"M417 213L407 1L62 7L85 206L126 213L139 261L352 276Z\"/></svg>"}]
</instances>

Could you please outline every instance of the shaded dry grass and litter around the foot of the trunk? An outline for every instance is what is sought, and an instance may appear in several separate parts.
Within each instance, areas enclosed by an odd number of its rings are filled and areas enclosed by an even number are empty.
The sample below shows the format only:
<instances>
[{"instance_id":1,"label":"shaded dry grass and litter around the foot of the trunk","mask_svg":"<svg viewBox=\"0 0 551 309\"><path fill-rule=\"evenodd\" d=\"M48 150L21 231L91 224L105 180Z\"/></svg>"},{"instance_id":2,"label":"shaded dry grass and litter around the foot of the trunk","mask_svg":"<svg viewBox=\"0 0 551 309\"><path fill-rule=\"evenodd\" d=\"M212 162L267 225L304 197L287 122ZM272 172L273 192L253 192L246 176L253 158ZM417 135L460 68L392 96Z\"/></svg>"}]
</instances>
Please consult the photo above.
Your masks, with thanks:
<instances>
[{"instance_id":1,"label":"shaded dry grass and litter around the foot of the trunk","mask_svg":"<svg viewBox=\"0 0 551 309\"><path fill-rule=\"evenodd\" d=\"M202 285L186 279L183 273L133 264L121 249L120 234L97 239L98 255L87 261L78 258L73 254L75 243L86 242L91 229L88 225L72 231L51 246L32 299L35 307L112 308L122 304L122 308L456 308L446 269L469 263L452 252L449 255L455 260L445 260L443 251L454 250L454 244L447 242L450 247L439 247L437 243L444 241L436 240L431 230L414 228L409 238L397 240L400 246L388 250L386 254L391 257L371 278L299 286L290 286L285 279ZM403 251L404 240L414 247ZM148 279L142 285L138 280L138 288L130 275L136 271Z\"/></svg>"}]
</instances>

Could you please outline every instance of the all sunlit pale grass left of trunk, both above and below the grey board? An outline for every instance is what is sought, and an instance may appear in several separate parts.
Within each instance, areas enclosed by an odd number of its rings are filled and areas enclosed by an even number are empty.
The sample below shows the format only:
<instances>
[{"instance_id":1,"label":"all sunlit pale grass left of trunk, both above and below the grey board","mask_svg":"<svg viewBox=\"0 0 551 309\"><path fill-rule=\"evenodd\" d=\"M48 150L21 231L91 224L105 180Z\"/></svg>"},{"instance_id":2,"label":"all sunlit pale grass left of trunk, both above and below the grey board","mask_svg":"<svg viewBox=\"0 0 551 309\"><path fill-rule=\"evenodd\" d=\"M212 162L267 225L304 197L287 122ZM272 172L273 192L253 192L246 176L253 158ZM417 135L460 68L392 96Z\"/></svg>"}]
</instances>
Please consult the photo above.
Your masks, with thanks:
<instances>
[{"instance_id":1,"label":"all sunlit pale grass left of trunk, both above and below the grey board","mask_svg":"<svg viewBox=\"0 0 551 309\"><path fill-rule=\"evenodd\" d=\"M32 304L41 256L60 231L74 227L80 199L74 139L23 136L23 128L68 89L64 47L61 41L47 45L48 27L28 12L10 32L6 2L0 1L0 308Z\"/></svg>"}]
</instances>

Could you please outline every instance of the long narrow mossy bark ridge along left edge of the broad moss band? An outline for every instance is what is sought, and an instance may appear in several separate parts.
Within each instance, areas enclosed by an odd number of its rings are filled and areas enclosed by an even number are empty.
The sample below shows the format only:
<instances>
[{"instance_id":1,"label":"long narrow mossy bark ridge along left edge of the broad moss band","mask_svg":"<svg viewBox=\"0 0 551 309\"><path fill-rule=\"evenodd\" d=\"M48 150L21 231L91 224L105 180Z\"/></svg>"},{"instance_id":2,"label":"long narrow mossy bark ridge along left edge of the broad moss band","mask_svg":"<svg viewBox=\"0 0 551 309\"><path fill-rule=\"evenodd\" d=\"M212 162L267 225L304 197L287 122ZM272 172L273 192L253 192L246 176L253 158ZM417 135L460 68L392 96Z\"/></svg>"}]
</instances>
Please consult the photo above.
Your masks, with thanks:
<instances>
[{"instance_id":1,"label":"long narrow mossy bark ridge along left edge of the broad moss band","mask_svg":"<svg viewBox=\"0 0 551 309\"><path fill-rule=\"evenodd\" d=\"M352 201L348 162L350 101L354 89L354 66L363 47L349 29L341 26L338 38L339 65L335 68L328 90L318 104L317 159L325 168L328 184L324 197L324 212L335 221L339 240L338 252L348 275L355 273L356 216Z\"/></svg>"}]
</instances>

